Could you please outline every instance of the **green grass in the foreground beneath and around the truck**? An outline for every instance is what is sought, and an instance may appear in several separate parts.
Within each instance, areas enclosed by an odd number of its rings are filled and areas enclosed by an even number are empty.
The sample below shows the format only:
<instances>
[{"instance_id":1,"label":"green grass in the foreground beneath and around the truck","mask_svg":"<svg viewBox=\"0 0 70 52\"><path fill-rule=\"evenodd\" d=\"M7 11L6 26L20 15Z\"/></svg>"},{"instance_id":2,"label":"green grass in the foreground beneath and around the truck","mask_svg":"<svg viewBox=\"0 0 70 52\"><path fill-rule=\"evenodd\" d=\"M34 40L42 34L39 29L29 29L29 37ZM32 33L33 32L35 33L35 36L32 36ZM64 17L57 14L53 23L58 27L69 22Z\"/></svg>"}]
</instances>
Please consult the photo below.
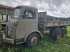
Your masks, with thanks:
<instances>
[{"instance_id":1,"label":"green grass in the foreground beneath and around the truck","mask_svg":"<svg viewBox=\"0 0 70 52\"><path fill-rule=\"evenodd\" d=\"M33 48L26 48L24 45L4 44L0 48L0 52L70 52L70 46L63 44L70 44L70 26L67 27L68 34L67 38L61 38L60 40L53 41L49 37L45 36L42 38L40 44Z\"/></svg>"}]
</instances>

